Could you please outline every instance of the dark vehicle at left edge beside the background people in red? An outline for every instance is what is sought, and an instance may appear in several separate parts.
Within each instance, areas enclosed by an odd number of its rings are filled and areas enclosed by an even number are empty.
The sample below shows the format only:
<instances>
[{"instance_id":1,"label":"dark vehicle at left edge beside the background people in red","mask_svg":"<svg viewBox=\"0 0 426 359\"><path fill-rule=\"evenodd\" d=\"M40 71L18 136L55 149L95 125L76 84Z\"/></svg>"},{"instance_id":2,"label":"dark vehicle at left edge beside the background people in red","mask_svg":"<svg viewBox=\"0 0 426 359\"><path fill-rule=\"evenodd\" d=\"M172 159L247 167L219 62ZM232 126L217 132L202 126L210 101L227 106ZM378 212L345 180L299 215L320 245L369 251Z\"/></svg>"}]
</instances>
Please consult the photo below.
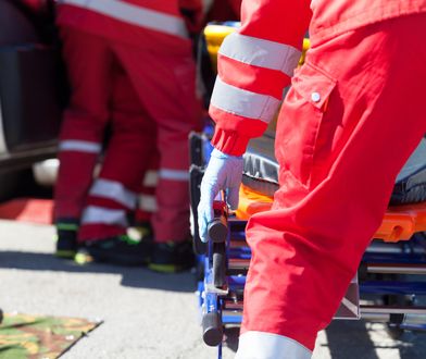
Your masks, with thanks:
<instances>
[{"instance_id":1,"label":"dark vehicle at left edge beside the background people in red","mask_svg":"<svg viewBox=\"0 0 426 359\"><path fill-rule=\"evenodd\" d=\"M11 173L55 157L66 86L53 10L0 0L0 193Z\"/></svg>"}]
</instances>

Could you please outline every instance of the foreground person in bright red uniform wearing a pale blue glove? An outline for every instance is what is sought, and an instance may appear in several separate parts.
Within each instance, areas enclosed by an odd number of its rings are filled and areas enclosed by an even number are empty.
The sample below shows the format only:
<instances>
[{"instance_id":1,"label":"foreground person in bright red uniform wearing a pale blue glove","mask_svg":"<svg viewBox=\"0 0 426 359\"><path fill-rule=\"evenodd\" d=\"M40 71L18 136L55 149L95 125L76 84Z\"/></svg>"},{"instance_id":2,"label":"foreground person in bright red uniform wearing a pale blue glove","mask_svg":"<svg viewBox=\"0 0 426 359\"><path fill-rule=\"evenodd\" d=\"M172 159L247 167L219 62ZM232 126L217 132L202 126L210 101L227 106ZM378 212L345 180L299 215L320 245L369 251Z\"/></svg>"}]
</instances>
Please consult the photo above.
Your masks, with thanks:
<instances>
[{"instance_id":1,"label":"foreground person in bright red uniform wearing a pale blue glove","mask_svg":"<svg viewBox=\"0 0 426 359\"><path fill-rule=\"evenodd\" d=\"M247 226L236 357L310 358L426 131L426 0L245 0L241 17L218 55L200 235L220 189L237 205L247 143L292 77L275 141L280 188ZM308 26L311 49L293 73Z\"/></svg>"}]
</instances>

